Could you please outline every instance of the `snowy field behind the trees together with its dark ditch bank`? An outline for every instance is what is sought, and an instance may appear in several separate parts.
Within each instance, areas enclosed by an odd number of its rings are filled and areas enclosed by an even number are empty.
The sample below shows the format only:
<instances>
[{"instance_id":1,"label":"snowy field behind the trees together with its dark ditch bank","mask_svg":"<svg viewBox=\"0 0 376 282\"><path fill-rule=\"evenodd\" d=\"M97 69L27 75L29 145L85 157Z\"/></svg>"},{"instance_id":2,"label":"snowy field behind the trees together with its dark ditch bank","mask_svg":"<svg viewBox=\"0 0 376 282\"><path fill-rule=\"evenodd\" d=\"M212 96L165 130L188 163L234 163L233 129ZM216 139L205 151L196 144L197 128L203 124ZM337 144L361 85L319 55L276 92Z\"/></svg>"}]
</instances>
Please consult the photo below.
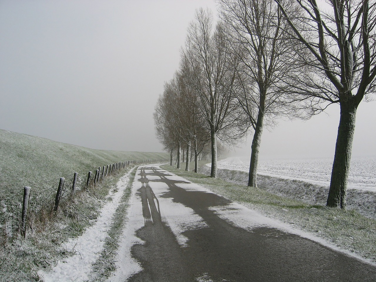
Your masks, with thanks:
<instances>
[{"instance_id":1,"label":"snowy field behind the trees together with its dark ditch bank","mask_svg":"<svg viewBox=\"0 0 376 282\"><path fill-rule=\"evenodd\" d=\"M261 161L258 186L270 193L326 205L329 192L331 162L329 159L274 159ZM201 168L210 173L210 164ZM368 218L376 219L376 158L354 158L347 190L347 208L355 209ZM220 178L246 185L249 164L240 158L218 162ZM235 171L235 173L234 173ZM237 171L237 172L236 172ZM351 182L350 182L351 178ZM298 180L298 181L297 181Z\"/></svg>"}]
</instances>

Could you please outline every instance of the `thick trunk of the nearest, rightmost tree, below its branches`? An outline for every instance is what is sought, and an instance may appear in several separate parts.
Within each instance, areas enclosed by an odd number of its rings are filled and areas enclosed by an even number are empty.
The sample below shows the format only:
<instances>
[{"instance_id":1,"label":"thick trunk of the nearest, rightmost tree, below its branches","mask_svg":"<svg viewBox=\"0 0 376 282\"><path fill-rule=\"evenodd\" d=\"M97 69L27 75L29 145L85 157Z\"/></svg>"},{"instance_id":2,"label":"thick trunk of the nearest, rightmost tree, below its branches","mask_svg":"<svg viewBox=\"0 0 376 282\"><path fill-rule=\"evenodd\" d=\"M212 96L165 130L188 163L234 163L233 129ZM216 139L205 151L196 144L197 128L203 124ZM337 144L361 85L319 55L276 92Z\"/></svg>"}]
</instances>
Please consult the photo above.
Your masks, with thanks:
<instances>
[{"instance_id":1,"label":"thick trunk of the nearest, rightmost tree, below its branches","mask_svg":"<svg viewBox=\"0 0 376 282\"><path fill-rule=\"evenodd\" d=\"M341 117L335 144L332 177L326 205L346 210L347 177L350 169L351 149L358 104L355 99L341 102Z\"/></svg>"}]
</instances>

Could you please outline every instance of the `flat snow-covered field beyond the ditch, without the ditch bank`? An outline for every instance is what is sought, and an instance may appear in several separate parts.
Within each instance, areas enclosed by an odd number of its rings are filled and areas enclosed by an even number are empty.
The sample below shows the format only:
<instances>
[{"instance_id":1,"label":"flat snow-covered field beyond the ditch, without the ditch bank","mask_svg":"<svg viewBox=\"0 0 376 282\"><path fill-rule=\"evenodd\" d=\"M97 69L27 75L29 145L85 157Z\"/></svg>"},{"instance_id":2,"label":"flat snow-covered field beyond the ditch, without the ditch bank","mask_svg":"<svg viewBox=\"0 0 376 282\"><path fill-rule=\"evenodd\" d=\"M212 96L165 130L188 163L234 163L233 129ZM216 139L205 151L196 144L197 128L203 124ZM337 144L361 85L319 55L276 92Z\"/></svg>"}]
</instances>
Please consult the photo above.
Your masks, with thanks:
<instances>
[{"instance_id":1,"label":"flat snow-covered field beyond the ditch, without the ditch bank","mask_svg":"<svg viewBox=\"0 0 376 282\"><path fill-rule=\"evenodd\" d=\"M329 186L332 164L332 158L264 159L258 174ZM249 171L249 158L227 158L218 162L218 168ZM375 157L351 159L348 188L376 191Z\"/></svg>"}]
</instances>

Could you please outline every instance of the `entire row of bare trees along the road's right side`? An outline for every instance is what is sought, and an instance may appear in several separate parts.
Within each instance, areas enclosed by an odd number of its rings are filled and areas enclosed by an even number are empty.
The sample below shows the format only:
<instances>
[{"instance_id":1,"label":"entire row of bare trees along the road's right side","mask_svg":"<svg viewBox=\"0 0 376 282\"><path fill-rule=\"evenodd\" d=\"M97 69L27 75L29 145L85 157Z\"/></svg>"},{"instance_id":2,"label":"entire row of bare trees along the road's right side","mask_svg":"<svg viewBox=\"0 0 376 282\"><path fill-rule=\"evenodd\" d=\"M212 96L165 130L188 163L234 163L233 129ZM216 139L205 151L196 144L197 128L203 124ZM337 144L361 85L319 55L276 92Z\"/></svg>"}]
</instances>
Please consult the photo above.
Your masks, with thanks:
<instances>
[{"instance_id":1,"label":"entire row of bare trees along the road's right side","mask_svg":"<svg viewBox=\"0 0 376 282\"><path fill-rule=\"evenodd\" d=\"M253 132L249 186L257 186L264 127L310 118L340 105L327 206L346 209L355 115L375 89L376 4L367 0L218 0L219 18L199 9L189 25L179 70L155 107L156 135L180 157ZM178 162L179 164L179 162ZM189 169L187 158L186 170Z\"/></svg>"}]
</instances>

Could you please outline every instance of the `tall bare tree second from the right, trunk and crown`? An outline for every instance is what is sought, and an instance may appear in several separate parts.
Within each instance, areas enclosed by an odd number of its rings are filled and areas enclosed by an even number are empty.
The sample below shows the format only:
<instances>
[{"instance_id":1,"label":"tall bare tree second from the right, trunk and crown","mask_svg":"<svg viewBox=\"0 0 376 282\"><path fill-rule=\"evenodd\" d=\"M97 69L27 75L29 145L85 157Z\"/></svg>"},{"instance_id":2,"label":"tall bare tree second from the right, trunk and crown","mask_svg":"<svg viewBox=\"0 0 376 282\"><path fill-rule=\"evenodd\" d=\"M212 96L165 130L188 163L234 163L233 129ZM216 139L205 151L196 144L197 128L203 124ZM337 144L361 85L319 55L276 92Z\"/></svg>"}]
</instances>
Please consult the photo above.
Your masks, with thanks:
<instances>
[{"instance_id":1,"label":"tall bare tree second from the right, trunk and crown","mask_svg":"<svg viewBox=\"0 0 376 282\"><path fill-rule=\"evenodd\" d=\"M233 94L254 134L248 186L257 186L257 166L265 122L277 116L300 116L297 99L287 91L288 73L298 71L296 40L274 0L220 0L221 18L229 28L238 87ZM291 1L290 1L291 2ZM303 107L304 108L304 107Z\"/></svg>"}]
</instances>

